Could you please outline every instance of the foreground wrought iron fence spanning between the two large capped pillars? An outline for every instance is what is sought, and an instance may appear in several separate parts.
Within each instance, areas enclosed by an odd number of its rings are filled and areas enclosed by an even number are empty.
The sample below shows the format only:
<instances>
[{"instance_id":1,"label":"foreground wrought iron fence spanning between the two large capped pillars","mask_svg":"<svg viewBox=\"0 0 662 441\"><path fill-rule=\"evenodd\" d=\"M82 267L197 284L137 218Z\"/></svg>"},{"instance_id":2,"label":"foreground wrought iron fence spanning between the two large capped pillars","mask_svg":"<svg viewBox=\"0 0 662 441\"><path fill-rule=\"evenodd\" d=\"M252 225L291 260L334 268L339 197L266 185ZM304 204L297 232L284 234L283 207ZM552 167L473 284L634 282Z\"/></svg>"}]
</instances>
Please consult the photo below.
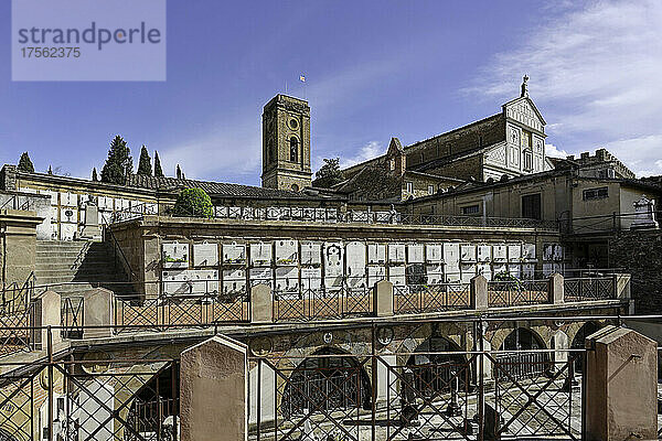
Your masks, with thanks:
<instances>
[{"instance_id":1,"label":"foreground wrought iron fence spanning between the two large capped pillars","mask_svg":"<svg viewBox=\"0 0 662 441\"><path fill-rule=\"evenodd\" d=\"M249 439L578 440L581 385L574 365L584 354L252 357Z\"/></svg>"}]
</instances>

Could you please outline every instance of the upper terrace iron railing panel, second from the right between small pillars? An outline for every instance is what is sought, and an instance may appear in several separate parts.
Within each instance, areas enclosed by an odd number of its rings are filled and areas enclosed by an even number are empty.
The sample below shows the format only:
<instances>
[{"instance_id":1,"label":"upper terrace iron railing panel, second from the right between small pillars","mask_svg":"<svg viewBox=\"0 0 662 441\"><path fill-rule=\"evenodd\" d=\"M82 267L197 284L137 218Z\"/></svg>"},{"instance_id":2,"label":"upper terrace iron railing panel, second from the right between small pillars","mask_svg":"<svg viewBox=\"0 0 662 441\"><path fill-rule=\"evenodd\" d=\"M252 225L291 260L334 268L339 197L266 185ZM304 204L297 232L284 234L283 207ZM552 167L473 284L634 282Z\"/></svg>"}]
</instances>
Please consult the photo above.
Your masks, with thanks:
<instances>
[{"instance_id":1,"label":"upper terrace iron railing panel, second from the right between small pillars","mask_svg":"<svg viewBox=\"0 0 662 441\"><path fill-rule=\"evenodd\" d=\"M548 280L506 280L488 282L488 305L493 308L547 303Z\"/></svg>"}]
</instances>

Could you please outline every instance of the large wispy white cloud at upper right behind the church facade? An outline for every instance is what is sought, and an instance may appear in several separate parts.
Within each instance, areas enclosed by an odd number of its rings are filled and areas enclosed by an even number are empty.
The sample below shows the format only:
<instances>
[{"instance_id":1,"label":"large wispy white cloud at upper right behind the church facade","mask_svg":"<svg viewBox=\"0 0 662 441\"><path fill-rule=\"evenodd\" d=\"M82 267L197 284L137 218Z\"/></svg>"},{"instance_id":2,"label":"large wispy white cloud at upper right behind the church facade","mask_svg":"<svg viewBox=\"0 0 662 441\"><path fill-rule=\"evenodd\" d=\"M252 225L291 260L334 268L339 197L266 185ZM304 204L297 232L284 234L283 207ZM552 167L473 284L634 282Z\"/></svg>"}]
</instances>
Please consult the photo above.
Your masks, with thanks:
<instances>
[{"instance_id":1,"label":"large wispy white cloud at upper right behind the church facade","mask_svg":"<svg viewBox=\"0 0 662 441\"><path fill-rule=\"evenodd\" d=\"M662 2L576 4L498 54L466 90L510 99L528 73L555 143L575 154L602 144L636 172L662 173Z\"/></svg>"}]
</instances>

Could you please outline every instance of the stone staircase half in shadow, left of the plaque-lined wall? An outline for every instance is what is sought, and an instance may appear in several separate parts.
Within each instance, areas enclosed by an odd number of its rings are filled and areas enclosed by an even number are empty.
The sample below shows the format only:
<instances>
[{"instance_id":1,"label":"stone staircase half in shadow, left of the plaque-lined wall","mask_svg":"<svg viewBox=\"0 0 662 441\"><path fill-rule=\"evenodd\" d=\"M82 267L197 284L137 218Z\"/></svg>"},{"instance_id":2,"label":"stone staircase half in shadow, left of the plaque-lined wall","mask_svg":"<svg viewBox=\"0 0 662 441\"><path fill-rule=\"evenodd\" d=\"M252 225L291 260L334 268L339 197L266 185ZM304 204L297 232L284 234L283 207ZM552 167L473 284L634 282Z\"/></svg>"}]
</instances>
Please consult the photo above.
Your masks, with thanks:
<instances>
[{"instance_id":1,"label":"stone staircase half in shadow, left of the plaque-lined wall","mask_svg":"<svg viewBox=\"0 0 662 441\"><path fill-rule=\"evenodd\" d=\"M109 244L98 241L36 241L36 286L49 289L63 298L77 297L92 288L103 287L116 293L129 289L124 270L114 265ZM39 288L43 291L44 288Z\"/></svg>"}]
</instances>

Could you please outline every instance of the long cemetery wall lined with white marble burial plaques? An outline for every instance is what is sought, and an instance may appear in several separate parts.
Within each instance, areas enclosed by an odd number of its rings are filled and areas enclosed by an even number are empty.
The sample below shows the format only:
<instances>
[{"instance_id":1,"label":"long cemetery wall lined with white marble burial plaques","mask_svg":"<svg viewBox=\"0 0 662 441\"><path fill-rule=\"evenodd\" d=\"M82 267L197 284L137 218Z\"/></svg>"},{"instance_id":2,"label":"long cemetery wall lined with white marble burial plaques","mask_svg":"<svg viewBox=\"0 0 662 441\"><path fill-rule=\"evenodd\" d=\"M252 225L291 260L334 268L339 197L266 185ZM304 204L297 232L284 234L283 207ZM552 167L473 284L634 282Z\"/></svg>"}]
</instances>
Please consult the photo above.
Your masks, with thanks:
<instances>
[{"instance_id":1,"label":"long cemetery wall lined with white marble burial plaques","mask_svg":"<svg viewBox=\"0 0 662 441\"><path fill-rule=\"evenodd\" d=\"M559 235L535 228L146 216L113 226L146 297L463 282L477 273L563 272ZM163 284L159 283L163 280ZM192 287L192 288L191 288Z\"/></svg>"}]
</instances>

